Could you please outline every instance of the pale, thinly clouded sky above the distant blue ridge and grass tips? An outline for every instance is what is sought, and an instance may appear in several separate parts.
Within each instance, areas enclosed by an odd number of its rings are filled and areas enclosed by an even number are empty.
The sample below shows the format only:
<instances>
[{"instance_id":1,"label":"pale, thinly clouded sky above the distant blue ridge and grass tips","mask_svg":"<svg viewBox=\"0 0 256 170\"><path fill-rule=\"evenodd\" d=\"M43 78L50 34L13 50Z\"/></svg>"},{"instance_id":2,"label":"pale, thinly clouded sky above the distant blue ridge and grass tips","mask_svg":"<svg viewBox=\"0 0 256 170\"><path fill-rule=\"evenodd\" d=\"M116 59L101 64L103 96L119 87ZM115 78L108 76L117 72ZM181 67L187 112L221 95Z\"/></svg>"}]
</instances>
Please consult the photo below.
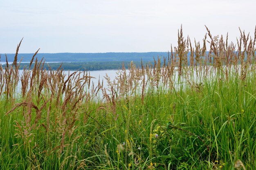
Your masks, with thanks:
<instances>
[{"instance_id":1,"label":"pale, thinly clouded sky above the distant blue ridge and grass tips","mask_svg":"<svg viewBox=\"0 0 256 170\"><path fill-rule=\"evenodd\" d=\"M254 37L256 0L0 0L0 53L166 52L177 31Z\"/></svg>"}]
</instances>

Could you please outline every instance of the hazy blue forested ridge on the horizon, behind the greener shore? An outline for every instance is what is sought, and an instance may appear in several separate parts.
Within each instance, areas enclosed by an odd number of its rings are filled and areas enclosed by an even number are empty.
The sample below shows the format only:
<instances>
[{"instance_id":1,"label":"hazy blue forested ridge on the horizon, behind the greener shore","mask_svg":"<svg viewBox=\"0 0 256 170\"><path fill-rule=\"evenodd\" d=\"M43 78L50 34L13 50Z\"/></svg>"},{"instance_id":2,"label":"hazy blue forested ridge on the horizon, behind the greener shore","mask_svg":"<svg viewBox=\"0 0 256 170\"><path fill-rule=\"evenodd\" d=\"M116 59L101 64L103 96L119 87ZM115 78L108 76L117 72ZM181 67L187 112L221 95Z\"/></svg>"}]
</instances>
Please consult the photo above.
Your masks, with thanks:
<instances>
[{"instance_id":1,"label":"hazy blue forested ridge on the horizon, behind the greener shore","mask_svg":"<svg viewBox=\"0 0 256 170\"><path fill-rule=\"evenodd\" d=\"M5 61L5 54L1 61ZM34 54L18 54L18 61L29 62ZM12 62L15 54L7 54L8 62ZM106 53L38 53L38 60L46 62L97 62L97 61L153 61L153 57L168 57L168 52L106 52Z\"/></svg>"}]
</instances>

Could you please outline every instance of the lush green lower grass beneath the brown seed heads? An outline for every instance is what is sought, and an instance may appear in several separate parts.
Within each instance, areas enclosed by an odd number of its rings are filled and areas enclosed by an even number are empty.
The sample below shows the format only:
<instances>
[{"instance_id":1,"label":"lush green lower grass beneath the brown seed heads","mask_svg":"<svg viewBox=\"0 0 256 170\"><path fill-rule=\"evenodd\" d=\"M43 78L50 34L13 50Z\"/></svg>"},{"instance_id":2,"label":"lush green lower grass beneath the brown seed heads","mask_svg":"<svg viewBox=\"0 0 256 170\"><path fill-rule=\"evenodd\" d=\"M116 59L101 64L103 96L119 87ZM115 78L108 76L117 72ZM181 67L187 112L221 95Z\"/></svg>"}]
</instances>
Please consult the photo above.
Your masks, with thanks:
<instances>
[{"instance_id":1,"label":"lush green lower grass beneath the brown seed heads","mask_svg":"<svg viewBox=\"0 0 256 170\"><path fill-rule=\"evenodd\" d=\"M49 103L38 126L29 129L22 107L6 115L13 105L3 94L0 168L229 170L240 159L256 169L256 74L244 81L236 74L222 76L203 80L200 89L148 89L143 105L139 93L123 97L116 114L108 109L111 103L82 103L76 112L67 107L65 122L52 105L49 129Z\"/></svg>"}]
</instances>

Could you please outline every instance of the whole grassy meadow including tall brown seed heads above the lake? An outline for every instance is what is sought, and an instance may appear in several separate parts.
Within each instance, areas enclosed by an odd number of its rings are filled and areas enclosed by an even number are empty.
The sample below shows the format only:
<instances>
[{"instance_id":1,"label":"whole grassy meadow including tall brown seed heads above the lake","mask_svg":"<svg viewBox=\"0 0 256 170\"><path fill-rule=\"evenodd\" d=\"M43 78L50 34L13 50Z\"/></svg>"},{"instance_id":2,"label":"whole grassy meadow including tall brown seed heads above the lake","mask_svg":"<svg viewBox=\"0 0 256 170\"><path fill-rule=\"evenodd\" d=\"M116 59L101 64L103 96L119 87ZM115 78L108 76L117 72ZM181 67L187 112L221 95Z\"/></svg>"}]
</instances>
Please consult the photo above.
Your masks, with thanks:
<instances>
[{"instance_id":1,"label":"whole grassy meadow including tall brown seed heads above the lake","mask_svg":"<svg viewBox=\"0 0 256 170\"><path fill-rule=\"evenodd\" d=\"M256 169L255 42L181 28L163 61L131 62L107 89L37 52L19 70L19 44L0 65L0 169Z\"/></svg>"}]
</instances>

